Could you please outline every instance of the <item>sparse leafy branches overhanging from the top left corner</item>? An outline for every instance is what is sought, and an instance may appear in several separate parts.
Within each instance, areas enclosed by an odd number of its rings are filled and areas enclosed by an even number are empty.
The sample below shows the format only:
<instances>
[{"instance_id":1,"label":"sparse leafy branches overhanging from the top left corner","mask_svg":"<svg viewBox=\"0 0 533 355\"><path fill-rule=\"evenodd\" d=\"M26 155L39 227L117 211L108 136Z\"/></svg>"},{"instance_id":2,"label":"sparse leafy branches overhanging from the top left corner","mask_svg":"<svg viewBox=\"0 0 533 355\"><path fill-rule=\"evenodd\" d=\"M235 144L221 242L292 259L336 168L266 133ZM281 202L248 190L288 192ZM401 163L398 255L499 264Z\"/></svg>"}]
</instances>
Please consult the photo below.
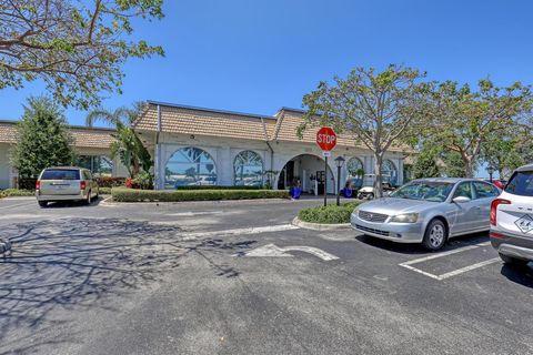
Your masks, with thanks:
<instances>
[{"instance_id":1,"label":"sparse leafy branches overhanging from the top left corner","mask_svg":"<svg viewBox=\"0 0 533 355\"><path fill-rule=\"evenodd\" d=\"M97 106L121 92L130 57L163 55L132 41L133 20L161 19L163 0L0 0L0 90L41 79L63 106Z\"/></svg>"}]
</instances>

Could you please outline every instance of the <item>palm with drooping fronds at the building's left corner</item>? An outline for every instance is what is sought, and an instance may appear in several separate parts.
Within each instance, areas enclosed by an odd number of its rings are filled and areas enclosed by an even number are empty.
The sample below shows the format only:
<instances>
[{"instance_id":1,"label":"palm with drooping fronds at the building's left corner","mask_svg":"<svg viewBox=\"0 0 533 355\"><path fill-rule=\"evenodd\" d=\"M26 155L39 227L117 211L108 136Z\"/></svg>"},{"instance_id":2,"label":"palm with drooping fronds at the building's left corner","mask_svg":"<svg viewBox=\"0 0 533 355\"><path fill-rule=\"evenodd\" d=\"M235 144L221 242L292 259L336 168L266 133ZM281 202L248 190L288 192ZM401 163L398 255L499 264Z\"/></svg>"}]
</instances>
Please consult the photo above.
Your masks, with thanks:
<instances>
[{"instance_id":1,"label":"palm with drooping fronds at the building's left corner","mask_svg":"<svg viewBox=\"0 0 533 355\"><path fill-rule=\"evenodd\" d=\"M98 121L114 125L115 132L112 135L115 141L111 144L111 158L119 158L130 178L135 178L141 170L149 173L153 165L150 152L131 128L131 123L142 110L144 110L144 104L138 102L133 104L132 109L119 108L114 111L97 109L89 112L86 118L88 126L93 126Z\"/></svg>"}]
</instances>

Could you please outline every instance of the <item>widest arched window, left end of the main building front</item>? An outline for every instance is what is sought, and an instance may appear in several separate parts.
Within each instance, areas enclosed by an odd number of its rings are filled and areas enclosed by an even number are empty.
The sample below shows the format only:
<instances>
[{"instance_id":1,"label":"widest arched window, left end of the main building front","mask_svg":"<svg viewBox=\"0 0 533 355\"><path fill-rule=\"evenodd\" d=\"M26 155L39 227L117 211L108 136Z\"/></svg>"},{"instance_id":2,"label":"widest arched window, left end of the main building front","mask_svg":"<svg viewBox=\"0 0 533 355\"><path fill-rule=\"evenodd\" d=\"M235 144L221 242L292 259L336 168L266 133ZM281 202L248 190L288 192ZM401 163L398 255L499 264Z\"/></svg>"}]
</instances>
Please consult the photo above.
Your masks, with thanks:
<instances>
[{"instance_id":1,"label":"widest arched window, left end of the main building front","mask_svg":"<svg viewBox=\"0 0 533 355\"><path fill-rule=\"evenodd\" d=\"M164 168L164 189L215 185L217 165L208 152L194 146L177 150Z\"/></svg>"}]
</instances>

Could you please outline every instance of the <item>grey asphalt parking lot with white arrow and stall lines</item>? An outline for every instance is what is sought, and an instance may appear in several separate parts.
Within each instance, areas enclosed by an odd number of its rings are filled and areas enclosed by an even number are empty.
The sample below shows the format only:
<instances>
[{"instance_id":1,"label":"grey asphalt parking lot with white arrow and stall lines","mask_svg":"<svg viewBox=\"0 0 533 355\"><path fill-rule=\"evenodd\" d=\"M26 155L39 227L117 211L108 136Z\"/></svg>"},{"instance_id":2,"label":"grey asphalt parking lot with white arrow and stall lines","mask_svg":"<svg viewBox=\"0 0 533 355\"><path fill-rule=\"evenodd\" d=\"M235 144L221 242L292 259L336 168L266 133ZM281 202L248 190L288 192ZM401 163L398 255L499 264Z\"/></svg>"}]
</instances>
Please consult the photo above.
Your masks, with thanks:
<instances>
[{"instance_id":1,"label":"grey asphalt parking lot with white arrow and stall lines","mask_svg":"<svg viewBox=\"0 0 533 355\"><path fill-rule=\"evenodd\" d=\"M0 201L0 354L533 354L533 267L293 226L320 201Z\"/></svg>"}]
</instances>

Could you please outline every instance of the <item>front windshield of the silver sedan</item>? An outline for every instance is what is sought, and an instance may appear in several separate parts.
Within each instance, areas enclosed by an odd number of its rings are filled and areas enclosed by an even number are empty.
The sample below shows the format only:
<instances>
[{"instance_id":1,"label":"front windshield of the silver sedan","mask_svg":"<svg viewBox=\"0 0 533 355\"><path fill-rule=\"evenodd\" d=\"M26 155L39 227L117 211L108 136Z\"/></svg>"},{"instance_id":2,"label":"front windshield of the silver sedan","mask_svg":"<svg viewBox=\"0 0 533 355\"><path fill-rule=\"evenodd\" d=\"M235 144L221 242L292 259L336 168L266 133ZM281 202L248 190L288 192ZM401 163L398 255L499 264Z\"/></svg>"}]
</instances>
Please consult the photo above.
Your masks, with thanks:
<instances>
[{"instance_id":1,"label":"front windshield of the silver sedan","mask_svg":"<svg viewBox=\"0 0 533 355\"><path fill-rule=\"evenodd\" d=\"M403 185L390 196L431 202L444 202L452 191L453 183L434 181L415 181Z\"/></svg>"}]
</instances>

